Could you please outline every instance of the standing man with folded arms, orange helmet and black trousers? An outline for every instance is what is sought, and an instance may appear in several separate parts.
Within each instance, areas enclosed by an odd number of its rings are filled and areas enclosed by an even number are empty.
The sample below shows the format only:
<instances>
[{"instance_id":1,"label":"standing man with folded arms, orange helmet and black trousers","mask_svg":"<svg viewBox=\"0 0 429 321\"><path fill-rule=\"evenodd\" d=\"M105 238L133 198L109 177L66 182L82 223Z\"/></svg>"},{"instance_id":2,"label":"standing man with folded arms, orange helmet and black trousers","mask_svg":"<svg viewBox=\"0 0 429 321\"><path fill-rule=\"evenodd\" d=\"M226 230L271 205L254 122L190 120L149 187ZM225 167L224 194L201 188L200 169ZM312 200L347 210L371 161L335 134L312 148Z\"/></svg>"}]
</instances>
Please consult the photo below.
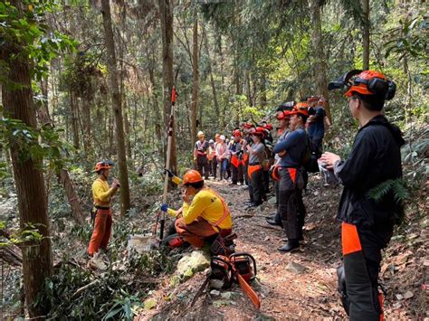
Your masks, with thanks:
<instances>
[{"instance_id":1,"label":"standing man with folded arms, orange helmet and black trousers","mask_svg":"<svg viewBox=\"0 0 429 321\"><path fill-rule=\"evenodd\" d=\"M281 156L279 183L279 212L288 241L278 250L289 252L300 246L303 239L305 207L302 203L304 178L302 161L307 150L305 122L309 117L307 104L298 103L291 111L290 133L274 146L274 153ZM298 214L300 213L300 214Z\"/></svg>"}]
</instances>

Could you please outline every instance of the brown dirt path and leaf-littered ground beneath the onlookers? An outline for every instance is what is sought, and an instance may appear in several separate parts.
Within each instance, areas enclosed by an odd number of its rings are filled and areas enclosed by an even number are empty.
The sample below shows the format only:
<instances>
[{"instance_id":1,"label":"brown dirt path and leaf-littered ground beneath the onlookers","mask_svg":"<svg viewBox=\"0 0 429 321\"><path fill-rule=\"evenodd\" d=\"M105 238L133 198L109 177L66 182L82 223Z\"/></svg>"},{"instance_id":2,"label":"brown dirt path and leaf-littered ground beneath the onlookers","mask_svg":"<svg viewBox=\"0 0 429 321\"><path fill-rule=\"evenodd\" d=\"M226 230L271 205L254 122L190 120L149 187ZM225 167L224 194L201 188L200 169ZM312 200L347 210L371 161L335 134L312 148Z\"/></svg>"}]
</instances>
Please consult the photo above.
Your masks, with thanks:
<instances>
[{"instance_id":1,"label":"brown dirt path and leaf-littered ground beneath the onlookers","mask_svg":"<svg viewBox=\"0 0 429 321\"><path fill-rule=\"evenodd\" d=\"M208 185L222 194L230 207L234 231L238 234L236 250L252 254L257 261L253 288L261 298L261 309L255 309L236 285L220 296L206 290L195 306L190 307L205 280L204 272L200 272L176 287L166 278L151 296L157 300L157 307L143 311L136 319L346 318L337 292L336 269L341 264L339 223L335 220L339 187L322 187L319 175L310 176L304 193L308 212L305 241L299 251L283 254L277 250L283 244L281 228L265 222L265 217L274 212L272 202L246 211L243 201L248 199L248 192L242 186L215 181L209 181ZM407 224L406 231L396 231L384 253L380 275L386 289L388 319L427 316L429 222L424 216Z\"/></svg>"}]
</instances>

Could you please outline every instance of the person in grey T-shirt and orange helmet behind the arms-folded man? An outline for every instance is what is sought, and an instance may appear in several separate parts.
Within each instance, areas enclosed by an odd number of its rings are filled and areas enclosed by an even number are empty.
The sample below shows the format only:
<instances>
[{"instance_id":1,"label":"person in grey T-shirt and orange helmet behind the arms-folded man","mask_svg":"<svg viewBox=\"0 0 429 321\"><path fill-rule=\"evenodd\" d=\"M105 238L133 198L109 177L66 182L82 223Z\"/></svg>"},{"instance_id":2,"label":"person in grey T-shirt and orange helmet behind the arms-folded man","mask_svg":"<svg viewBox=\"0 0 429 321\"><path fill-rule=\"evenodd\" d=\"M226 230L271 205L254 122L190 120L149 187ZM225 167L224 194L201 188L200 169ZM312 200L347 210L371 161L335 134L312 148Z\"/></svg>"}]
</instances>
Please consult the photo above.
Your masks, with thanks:
<instances>
[{"instance_id":1,"label":"person in grey T-shirt and orange helmet behind the arms-folded man","mask_svg":"<svg viewBox=\"0 0 429 321\"><path fill-rule=\"evenodd\" d=\"M243 143L244 152L249 155L247 175L249 178L250 206L259 206L266 199L265 189L262 182L262 162L264 159L265 145L263 144L264 129L256 127L251 131L252 146Z\"/></svg>"}]
</instances>

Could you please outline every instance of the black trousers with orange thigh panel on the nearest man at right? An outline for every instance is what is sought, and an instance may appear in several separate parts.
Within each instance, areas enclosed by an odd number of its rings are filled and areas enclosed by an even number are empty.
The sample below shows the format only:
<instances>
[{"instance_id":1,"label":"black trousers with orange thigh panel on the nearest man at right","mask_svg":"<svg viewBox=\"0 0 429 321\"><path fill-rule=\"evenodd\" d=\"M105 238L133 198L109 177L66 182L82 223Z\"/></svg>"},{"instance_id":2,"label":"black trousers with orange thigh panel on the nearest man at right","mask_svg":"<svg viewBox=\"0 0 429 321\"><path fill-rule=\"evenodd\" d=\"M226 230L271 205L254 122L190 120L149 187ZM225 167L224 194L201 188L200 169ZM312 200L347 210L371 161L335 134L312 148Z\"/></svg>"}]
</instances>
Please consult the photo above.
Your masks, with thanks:
<instances>
[{"instance_id":1,"label":"black trousers with orange thigh panel on the nearest man at right","mask_svg":"<svg viewBox=\"0 0 429 321\"><path fill-rule=\"evenodd\" d=\"M343 222L341 241L350 320L380 320L383 307L378 294L381 250L386 248L393 225L361 228Z\"/></svg>"}]
</instances>

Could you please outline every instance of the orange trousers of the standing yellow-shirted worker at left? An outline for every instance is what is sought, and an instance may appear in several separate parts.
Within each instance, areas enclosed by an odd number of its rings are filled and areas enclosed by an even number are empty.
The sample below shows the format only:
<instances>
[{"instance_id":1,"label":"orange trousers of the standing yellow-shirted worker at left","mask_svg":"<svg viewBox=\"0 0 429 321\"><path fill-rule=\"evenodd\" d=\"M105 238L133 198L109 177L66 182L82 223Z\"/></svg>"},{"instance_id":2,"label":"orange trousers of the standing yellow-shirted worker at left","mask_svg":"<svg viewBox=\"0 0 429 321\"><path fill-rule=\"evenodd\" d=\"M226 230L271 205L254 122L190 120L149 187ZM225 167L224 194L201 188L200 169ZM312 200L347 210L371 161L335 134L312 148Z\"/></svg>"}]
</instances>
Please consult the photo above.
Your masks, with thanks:
<instances>
[{"instance_id":1,"label":"orange trousers of the standing yellow-shirted worker at left","mask_svg":"<svg viewBox=\"0 0 429 321\"><path fill-rule=\"evenodd\" d=\"M97 209L88 254L92 256L100 249L105 250L107 248L111 235L112 222L110 209Z\"/></svg>"}]
</instances>

